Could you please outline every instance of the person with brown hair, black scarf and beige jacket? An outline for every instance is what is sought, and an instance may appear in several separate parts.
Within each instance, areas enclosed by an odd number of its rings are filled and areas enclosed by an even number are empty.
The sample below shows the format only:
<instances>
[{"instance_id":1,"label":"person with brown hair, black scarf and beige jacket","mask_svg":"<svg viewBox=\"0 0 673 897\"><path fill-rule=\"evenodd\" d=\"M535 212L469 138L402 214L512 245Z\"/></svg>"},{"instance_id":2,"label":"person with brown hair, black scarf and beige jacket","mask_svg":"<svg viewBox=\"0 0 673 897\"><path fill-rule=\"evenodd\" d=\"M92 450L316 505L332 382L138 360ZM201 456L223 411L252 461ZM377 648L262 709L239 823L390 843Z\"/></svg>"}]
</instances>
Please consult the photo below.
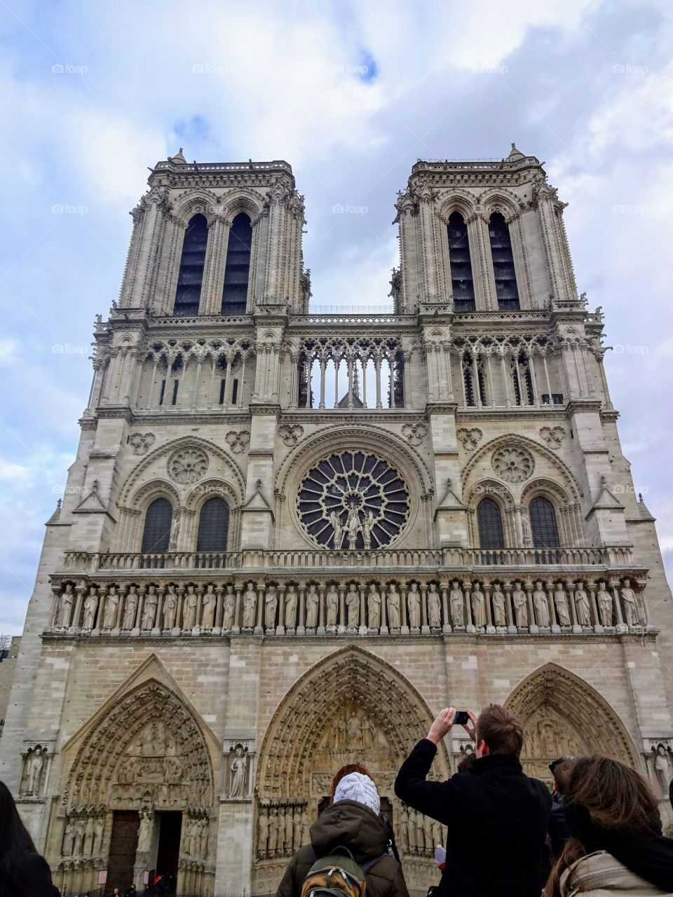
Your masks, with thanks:
<instances>
[{"instance_id":1,"label":"person with brown hair, black scarf and beige jacket","mask_svg":"<svg viewBox=\"0 0 673 897\"><path fill-rule=\"evenodd\" d=\"M572 766L564 790L570 837L545 897L653 897L673 893L673 840L647 780L618 760L594 754Z\"/></svg>"}]
</instances>

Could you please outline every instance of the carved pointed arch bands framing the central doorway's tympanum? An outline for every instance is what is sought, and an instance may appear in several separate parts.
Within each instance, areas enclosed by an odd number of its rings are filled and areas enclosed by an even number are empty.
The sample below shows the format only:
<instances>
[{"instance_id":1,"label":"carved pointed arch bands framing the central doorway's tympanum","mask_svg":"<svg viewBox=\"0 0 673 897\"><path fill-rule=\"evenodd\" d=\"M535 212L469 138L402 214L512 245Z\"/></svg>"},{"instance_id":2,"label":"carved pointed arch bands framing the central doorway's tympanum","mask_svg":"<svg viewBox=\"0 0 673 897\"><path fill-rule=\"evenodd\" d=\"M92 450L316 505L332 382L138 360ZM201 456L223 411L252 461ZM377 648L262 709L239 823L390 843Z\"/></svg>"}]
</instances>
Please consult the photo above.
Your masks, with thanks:
<instances>
[{"instance_id":1,"label":"carved pointed arch bands framing the central doorway's tympanum","mask_svg":"<svg viewBox=\"0 0 673 897\"><path fill-rule=\"evenodd\" d=\"M433 721L422 696L394 666L361 648L337 650L302 675L275 710L260 752L259 796L310 794L310 760L330 722L352 704L375 722L398 762ZM446 777L443 749L440 767Z\"/></svg>"}]
</instances>

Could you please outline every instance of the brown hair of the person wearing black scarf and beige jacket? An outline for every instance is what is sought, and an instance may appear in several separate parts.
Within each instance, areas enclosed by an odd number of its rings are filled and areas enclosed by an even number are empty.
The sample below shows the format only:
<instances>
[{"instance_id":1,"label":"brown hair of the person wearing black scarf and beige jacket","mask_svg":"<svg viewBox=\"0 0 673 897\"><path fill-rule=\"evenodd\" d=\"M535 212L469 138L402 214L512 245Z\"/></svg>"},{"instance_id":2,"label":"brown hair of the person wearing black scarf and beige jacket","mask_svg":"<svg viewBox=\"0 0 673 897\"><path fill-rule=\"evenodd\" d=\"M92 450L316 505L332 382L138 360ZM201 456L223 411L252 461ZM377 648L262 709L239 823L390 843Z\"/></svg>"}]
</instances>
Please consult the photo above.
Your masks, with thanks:
<instances>
[{"instance_id":1,"label":"brown hair of the person wearing black scarf and beige jacket","mask_svg":"<svg viewBox=\"0 0 673 897\"><path fill-rule=\"evenodd\" d=\"M657 832L652 820L657 800L640 772L610 757L594 754L572 764L564 789L567 803L583 806L597 829L605 829L636 838L653 838ZM578 859L586 856L581 840L566 841L546 884L545 897L560 897L561 875Z\"/></svg>"}]
</instances>

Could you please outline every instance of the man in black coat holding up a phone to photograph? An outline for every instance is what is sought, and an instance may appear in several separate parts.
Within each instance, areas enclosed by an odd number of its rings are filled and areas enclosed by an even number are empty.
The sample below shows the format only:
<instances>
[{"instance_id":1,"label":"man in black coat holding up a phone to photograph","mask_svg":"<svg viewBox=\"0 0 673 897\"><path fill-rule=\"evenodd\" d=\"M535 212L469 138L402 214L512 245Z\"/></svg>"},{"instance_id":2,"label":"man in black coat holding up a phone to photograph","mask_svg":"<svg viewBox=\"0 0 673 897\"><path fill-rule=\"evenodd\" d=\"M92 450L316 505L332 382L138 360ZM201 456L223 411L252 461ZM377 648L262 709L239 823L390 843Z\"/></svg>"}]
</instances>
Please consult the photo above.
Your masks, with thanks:
<instances>
[{"instance_id":1,"label":"man in black coat holding up a phone to photograph","mask_svg":"<svg viewBox=\"0 0 673 897\"><path fill-rule=\"evenodd\" d=\"M395 793L408 806L448 829L446 867L438 894L447 897L539 897L551 797L521 769L519 720L491 704L479 717L468 710L463 728L475 742L467 775L426 781L437 745L450 732L456 710L441 710L427 738L398 771Z\"/></svg>"}]
</instances>

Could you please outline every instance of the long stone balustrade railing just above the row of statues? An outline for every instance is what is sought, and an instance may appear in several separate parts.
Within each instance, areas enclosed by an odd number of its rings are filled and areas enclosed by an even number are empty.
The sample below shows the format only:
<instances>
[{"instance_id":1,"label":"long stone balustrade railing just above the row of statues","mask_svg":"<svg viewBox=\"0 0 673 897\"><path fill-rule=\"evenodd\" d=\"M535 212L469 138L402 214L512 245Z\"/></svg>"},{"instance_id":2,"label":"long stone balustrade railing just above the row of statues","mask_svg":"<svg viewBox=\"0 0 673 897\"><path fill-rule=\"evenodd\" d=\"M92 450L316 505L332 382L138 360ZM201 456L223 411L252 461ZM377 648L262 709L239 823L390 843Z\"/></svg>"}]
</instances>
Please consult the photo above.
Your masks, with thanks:
<instances>
[{"instance_id":1,"label":"long stone balustrade railing just above the row of statues","mask_svg":"<svg viewBox=\"0 0 673 897\"><path fill-rule=\"evenodd\" d=\"M499 567L535 570L540 567L628 568L634 566L630 546L606 548L381 548L376 550L286 549L240 552L66 552L62 572L123 570L473 570ZM637 565L641 566L641 565Z\"/></svg>"}]
</instances>

